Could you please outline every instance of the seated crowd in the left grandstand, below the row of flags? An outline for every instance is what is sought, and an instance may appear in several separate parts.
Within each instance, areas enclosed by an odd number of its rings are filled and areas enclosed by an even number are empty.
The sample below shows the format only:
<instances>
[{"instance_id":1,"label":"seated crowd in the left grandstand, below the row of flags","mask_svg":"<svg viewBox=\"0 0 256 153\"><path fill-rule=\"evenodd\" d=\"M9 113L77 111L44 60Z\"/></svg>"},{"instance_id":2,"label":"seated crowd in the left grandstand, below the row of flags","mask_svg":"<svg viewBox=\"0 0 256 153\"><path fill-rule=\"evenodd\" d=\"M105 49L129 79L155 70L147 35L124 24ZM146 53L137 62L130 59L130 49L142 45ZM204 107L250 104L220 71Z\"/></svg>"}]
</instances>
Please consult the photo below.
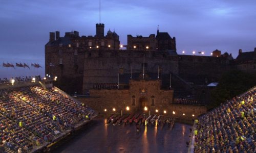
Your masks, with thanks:
<instances>
[{"instance_id":1,"label":"seated crowd in the left grandstand, below the row of flags","mask_svg":"<svg viewBox=\"0 0 256 153\"><path fill-rule=\"evenodd\" d=\"M20 152L49 144L91 115L92 109L54 89L0 90L0 147Z\"/></svg>"}]
</instances>

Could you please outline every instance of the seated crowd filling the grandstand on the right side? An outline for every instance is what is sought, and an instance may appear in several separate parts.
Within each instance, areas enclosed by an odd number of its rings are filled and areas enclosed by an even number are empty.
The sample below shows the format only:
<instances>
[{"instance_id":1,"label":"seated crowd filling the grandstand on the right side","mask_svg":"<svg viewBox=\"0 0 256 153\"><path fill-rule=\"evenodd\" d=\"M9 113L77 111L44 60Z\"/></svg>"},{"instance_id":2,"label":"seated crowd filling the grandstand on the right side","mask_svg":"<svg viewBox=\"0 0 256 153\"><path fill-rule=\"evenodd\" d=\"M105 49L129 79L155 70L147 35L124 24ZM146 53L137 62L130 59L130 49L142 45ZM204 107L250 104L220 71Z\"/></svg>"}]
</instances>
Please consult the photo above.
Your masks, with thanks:
<instances>
[{"instance_id":1,"label":"seated crowd filling the grandstand on the right side","mask_svg":"<svg viewBox=\"0 0 256 153\"><path fill-rule=\"evenodd\" d=\"M195 152L256 152L256 88L195 120Z\"/></svg>"}]
</instances>

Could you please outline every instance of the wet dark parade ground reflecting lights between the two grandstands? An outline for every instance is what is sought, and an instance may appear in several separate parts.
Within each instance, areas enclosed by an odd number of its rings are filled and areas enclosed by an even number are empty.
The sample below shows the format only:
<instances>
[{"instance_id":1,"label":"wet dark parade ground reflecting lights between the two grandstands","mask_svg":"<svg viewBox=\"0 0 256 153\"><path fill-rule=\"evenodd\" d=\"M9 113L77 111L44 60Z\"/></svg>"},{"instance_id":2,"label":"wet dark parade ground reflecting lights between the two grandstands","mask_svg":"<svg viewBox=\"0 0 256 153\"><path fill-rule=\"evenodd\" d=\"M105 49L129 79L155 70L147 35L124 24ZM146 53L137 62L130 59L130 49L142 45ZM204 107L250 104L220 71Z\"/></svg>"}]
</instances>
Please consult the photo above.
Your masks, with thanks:
<instances>
[{"instance_id":1,"label":"wet dark parade ground reflecting lights between the two grandstands","mask_svg":"<svg viewBox=\"0 0 256 153\"><path fill-rule=\"evenodd\" d=\"M106 124L106 119L95 118L51 148L50 152L187 152L188 124L141 126L135 124Z\"/></svg>"}]
</instances>

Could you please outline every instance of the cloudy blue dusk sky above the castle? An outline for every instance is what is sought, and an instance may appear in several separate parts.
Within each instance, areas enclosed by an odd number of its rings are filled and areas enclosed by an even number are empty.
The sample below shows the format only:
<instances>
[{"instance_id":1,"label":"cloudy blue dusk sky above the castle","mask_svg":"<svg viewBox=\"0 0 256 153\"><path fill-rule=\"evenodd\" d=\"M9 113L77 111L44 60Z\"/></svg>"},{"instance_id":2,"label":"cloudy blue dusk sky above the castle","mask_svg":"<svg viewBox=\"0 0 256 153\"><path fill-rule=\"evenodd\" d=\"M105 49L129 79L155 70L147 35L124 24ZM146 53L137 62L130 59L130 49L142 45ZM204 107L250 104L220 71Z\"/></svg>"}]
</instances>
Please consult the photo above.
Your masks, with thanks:
<instances>
[{"instance_id":1,"label":"cloudy blue dusk sky above the castle","mask_svg":"<svg viewBox=\"0 0 256 153\"><path fill-rule=\"evenodd\" d=\"M95 35L99 1L0 0L0 78L44 74L44 46L49 32L71 30ZM101 0L101 23L127 44L127 34L148 36L168 32L176 37L177 52L206 55L219 49L232 53L256 47L256 1L236 0ZM4 68L3 62L39 63L43 68Z\"/></svg>"}]
</instances>

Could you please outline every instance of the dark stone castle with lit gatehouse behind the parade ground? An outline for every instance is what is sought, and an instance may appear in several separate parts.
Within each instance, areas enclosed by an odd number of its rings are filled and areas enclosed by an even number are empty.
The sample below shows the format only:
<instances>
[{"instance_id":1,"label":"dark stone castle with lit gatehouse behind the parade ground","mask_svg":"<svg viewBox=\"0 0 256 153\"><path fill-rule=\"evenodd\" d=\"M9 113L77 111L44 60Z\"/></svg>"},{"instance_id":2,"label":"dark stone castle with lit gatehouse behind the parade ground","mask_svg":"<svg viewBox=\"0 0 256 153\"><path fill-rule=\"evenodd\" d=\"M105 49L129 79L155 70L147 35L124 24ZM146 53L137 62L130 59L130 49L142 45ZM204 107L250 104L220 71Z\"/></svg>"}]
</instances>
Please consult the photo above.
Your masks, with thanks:
<instances>
[{"instance_id":1,"label":"dark stone castle with lit gatehouse behind the parade ground","mask_svg":"<svg viewBox=\"0 0 256 153\"><path fill-rule=\"evenodd\" d=\"M127 35L127 45L121 46L116 32L109 30L104 36L102 23L96 24L95 36L72 31L60 37L58 31L51 32L45 45L46 74L58 77L57 87L70 94L90 91L102 98L118 93L121 96L113 101L126 97L128 101L118 103L131 103L136 109L183 97L205 102L209 94L205 85L218 82L231 69L255 72L255 61L256 48L239 50L237 59L218 49L212 56L178 55L175 37L159 30L148 37Z\"/></svg>"}]
</instances>

